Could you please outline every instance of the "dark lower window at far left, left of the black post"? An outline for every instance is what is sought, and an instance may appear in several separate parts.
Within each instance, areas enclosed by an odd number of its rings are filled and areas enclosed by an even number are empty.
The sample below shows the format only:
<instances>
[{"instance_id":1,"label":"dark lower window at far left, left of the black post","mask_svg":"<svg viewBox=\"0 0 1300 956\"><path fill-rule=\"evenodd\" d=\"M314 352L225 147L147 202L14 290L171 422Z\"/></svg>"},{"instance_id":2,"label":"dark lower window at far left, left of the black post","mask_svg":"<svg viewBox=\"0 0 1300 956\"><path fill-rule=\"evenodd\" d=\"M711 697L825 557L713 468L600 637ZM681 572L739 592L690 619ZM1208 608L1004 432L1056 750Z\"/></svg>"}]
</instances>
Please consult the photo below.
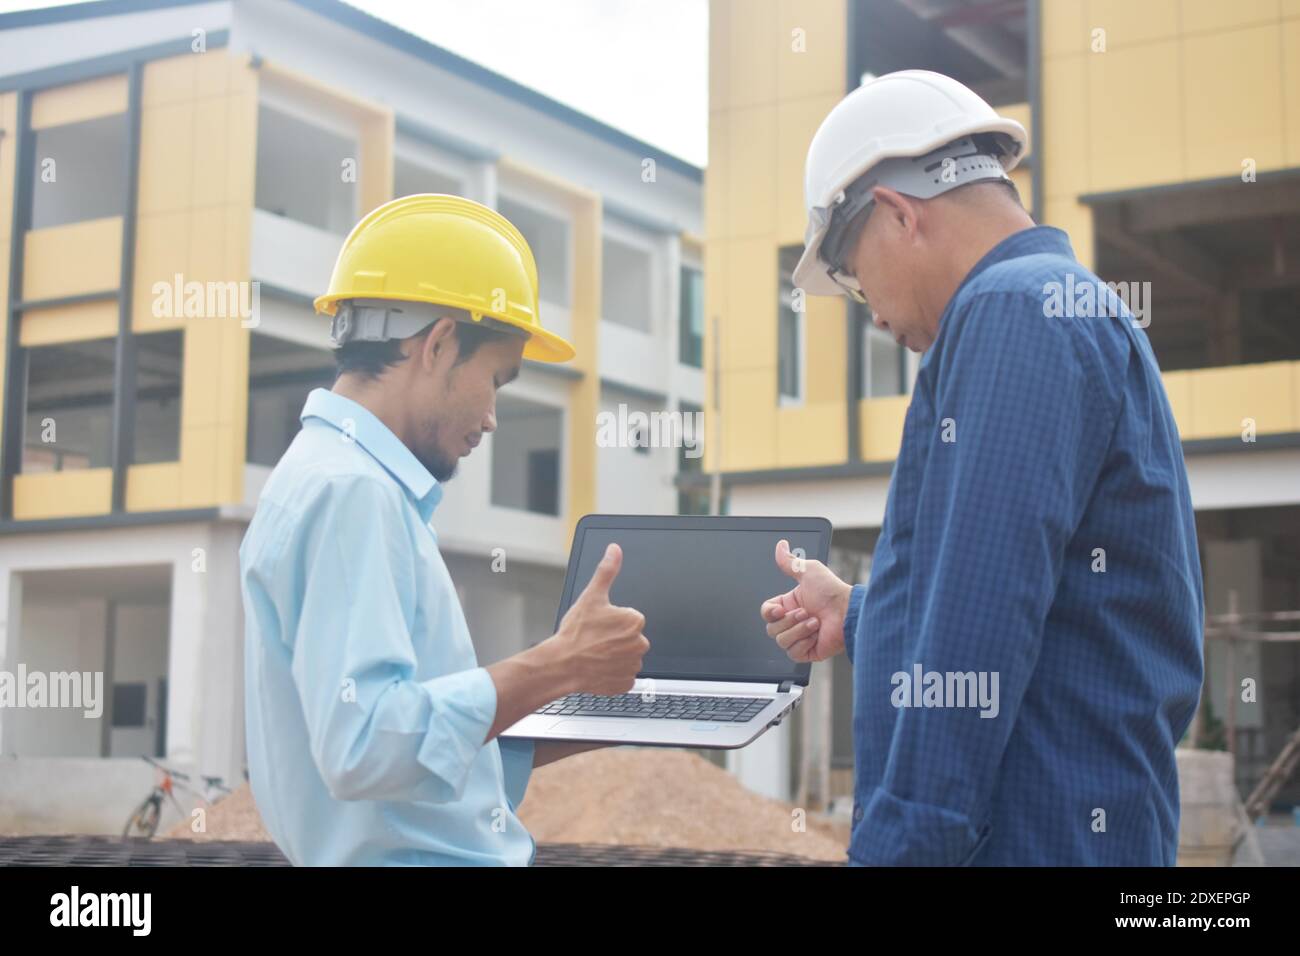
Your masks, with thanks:
<instances>
[{"instance_id":1,"label":"dark lower window at far left, left of the black post","mask_svg":"<svg viewBox=\"0 0 1300 956\"><path fill-rule=\"evenodd\" d=\"M112 464L113 338L26 351L23 473Z\"/></svg>"}]
</instances>

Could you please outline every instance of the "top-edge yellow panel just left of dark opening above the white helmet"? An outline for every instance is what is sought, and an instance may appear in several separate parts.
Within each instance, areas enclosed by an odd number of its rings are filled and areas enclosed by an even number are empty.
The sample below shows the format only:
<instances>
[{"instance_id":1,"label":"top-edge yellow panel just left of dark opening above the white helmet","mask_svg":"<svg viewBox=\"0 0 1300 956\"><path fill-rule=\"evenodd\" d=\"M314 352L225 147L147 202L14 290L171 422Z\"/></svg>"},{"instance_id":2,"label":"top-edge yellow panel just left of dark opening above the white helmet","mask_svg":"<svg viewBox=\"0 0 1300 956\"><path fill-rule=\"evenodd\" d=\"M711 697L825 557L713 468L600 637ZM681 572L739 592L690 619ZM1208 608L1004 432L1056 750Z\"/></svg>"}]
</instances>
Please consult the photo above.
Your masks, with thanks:
<instances>
[{"instance_id":1,"label":"top-edge yellow panel just left of dark opening above the white helmet","mask_svg":"<svg viewBox=\"0 0 1300 956\"><path fill-rule=\"evenodd\" d=\"M780 0L777 16L776 96L842 96L845 0Z\"/></svg>"}]
</instances>

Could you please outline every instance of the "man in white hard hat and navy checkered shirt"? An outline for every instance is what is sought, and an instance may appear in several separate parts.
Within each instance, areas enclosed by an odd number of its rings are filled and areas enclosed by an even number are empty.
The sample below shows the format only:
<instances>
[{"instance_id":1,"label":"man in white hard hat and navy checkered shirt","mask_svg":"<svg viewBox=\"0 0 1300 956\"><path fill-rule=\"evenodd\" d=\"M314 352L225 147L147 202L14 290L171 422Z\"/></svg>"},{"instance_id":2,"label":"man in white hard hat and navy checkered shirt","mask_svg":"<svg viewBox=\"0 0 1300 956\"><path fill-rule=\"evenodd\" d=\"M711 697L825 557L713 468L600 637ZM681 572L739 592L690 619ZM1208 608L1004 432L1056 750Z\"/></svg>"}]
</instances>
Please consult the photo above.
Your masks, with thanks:
<instances>
[{"instance_id":1,"label":"man in white hard hat and navy checkered shirt","mask_svg":"<svg viewBox=\"0 0 1300 956\"><path fill-rule=\"evenodd\" d=\"M781 542L798 584L760 609L796 661L853 662L854 864L1175 860L1204 611L1182 445L1132 313L1022 208L1024 148L922 70L809 148L796 285L924 352L870 585Z\"/></svg>"}]
</instances>

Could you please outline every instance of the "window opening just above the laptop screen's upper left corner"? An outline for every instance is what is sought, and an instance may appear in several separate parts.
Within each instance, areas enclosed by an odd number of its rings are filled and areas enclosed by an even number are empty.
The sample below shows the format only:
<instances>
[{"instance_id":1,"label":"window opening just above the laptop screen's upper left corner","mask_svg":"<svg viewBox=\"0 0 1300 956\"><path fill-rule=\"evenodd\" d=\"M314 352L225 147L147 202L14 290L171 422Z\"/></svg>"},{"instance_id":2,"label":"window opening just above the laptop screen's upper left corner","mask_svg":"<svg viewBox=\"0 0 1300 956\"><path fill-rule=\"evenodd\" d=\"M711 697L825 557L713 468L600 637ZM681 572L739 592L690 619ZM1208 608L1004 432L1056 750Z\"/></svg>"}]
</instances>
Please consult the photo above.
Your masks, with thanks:
<instances>
[{"instance_id":1,"label":"window opening just above the laptop screen's upper left corner","mask_svg":"<svg viewBox=\"0 0 1300 956\"><path fill-rule=\"evenodd\" d=\"M491 503L541 515L560 512L559 408L521 398L497 399L491 438Z\"/></svg>"}]
</instances>

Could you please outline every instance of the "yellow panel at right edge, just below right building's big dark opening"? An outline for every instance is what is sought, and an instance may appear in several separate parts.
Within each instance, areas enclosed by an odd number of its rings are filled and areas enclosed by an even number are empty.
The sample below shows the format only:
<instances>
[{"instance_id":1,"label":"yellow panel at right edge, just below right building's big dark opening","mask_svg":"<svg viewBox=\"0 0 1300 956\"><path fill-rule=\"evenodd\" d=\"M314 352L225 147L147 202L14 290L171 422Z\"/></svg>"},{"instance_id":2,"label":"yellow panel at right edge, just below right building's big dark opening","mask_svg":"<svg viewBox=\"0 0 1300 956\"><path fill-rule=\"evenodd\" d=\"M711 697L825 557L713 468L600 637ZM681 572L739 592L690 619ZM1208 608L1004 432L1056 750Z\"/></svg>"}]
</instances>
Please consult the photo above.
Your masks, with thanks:
<instances>
[{"instance_id":1,"label":"yellow panel at right edge, just below right building's big dark opening","mask_svg":"<svg viewBox=\"0 0 1300 956\"><path fill-rule=\"evenodd\" d=\"M1295 420L1295 365L1201 368L1192 378L1192 433L1184 438L1240 436L1243 419L1253 419L1258 434L1300 431Z\"/></svg>"}]
</instances>

